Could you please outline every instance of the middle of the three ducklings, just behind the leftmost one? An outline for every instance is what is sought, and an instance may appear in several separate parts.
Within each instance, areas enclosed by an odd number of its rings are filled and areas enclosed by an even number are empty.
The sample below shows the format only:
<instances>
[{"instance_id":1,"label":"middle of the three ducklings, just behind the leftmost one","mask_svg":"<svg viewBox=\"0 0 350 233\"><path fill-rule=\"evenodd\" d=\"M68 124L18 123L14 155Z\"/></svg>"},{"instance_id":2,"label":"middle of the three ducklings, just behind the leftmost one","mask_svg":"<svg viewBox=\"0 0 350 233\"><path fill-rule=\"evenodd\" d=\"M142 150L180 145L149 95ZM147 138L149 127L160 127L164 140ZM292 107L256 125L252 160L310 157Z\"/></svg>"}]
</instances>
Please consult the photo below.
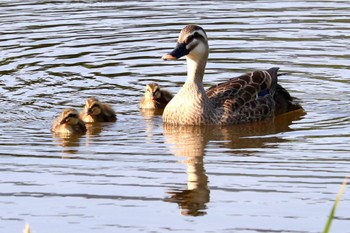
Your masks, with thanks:
<instances>
[{"instance_id":1,"label":"middle of the three ducklings, just behind the leftmost one","mask_svg":"<svg viewBox=\"0 0 350 233\"><path fill-rule=\"evenodd\" d=\"M117 114L108 104L101 103L97 98L91 97L86 100L80 118L85 123L93 122L115 122Z\"/></svg>"}]
</instances>

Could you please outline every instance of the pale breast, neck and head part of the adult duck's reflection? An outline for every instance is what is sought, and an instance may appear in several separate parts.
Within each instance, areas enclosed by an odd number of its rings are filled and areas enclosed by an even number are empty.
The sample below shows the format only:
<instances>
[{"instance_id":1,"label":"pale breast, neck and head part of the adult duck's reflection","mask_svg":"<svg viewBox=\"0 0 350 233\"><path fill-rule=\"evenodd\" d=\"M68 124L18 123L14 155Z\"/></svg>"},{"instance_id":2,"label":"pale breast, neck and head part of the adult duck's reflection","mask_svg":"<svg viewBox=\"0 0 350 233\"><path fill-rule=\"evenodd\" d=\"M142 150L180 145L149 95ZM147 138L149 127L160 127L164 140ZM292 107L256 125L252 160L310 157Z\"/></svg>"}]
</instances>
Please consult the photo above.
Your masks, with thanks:
<instances>
[{"instance_id":1,"label":"pale breast, neck and head part of the adult duck's reflection","mask_svg":"<svg viewBox=\"0 0 350 233\"><path fill-rule=\"evenodd\" d=\"M163 130L171 150L177 156L184 156L187 166L187 188L169 190L170 197L165 201L177 203L182 215L205 215L206 203L210 200L203 162L204 149L209 141L208 127L164 125Z\"/></svg>"}]
</instances>

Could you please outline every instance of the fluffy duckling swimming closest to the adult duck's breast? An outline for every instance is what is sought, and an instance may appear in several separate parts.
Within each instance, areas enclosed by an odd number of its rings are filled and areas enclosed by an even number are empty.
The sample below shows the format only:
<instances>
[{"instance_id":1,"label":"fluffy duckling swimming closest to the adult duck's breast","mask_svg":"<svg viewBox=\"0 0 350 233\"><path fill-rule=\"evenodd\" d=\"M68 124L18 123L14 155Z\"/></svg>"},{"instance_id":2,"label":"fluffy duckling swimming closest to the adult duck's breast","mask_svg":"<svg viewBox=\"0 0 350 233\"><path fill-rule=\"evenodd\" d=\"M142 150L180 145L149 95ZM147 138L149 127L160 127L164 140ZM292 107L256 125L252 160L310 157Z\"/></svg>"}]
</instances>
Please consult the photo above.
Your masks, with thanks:
<instances>
[{"instance_id":1,"label":"fluffy duckling swimming closest to the adult duck's breast","mask_svg":"<svg viewBox=\"0 0 350 233\"><path fill-rule=\"evenodd\" d=\"M142 109L163 109L173 98L173 95L160 89L157 83L149 83L146 85L146 92L140 101Z\"/></svg>"}]
</instances>

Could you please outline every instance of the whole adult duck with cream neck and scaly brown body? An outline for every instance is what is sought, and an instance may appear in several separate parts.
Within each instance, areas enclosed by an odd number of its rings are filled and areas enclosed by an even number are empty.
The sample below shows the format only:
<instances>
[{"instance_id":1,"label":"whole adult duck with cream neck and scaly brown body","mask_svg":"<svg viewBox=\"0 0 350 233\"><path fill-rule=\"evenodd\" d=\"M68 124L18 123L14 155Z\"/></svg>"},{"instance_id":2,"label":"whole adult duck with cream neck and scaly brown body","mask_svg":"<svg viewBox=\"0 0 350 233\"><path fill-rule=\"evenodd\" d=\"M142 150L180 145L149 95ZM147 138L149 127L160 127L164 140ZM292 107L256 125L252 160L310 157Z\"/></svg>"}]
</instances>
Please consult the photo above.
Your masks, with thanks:
<instances>
[{"instance_id":1,"label":"whole adult duck with cream neck and scaly brown body","mask_svg":"<svg viewBox=\"0 0 350 233\"><path fill-rule=\"evenodd\" d=\"M301 106L279 84L279 68L258 70L203 87L209 54L203 28L188 25L181 32L176 48L164 60L187 60L187 80L165 107L163 120L175 125L228 125L261 121Z\"/></svg>"}]
</instances>

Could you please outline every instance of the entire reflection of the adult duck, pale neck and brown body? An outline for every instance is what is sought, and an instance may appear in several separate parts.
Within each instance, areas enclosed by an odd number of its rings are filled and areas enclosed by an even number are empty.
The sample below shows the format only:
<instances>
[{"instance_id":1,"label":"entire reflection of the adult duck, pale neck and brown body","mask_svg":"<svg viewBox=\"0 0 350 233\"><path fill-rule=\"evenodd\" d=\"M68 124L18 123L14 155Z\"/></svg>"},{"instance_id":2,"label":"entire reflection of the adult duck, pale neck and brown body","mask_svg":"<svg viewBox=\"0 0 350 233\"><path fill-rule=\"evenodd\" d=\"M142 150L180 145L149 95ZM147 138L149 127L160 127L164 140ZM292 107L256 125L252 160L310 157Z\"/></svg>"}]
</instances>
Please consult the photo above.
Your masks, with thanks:
<instances>
[{"instance_id":1,"label":"entire reflection of the adult duck, pale neck and brown body","mask_svg":"<svg viewBox=\"0 0 350 233\"><path fill-rule=\"evenodd\" d=\"M206 214L206 203L210 200L208 176L204 168L205 147L210 140L223 142L222 147L230 149L271 147L271 142L286 141L277 133L291 131L290 125L305 113L294 111L273 120L246 125L232 126L172 126L163 125L166 142L176 156L184 156L187 166L187 189L170 190L165 201L174 202L181 208L181 214L201 216ZM274 135L268 136L266 135ZM230 153L232 150L230 150Z\"/></svg>"}]
</instances>

